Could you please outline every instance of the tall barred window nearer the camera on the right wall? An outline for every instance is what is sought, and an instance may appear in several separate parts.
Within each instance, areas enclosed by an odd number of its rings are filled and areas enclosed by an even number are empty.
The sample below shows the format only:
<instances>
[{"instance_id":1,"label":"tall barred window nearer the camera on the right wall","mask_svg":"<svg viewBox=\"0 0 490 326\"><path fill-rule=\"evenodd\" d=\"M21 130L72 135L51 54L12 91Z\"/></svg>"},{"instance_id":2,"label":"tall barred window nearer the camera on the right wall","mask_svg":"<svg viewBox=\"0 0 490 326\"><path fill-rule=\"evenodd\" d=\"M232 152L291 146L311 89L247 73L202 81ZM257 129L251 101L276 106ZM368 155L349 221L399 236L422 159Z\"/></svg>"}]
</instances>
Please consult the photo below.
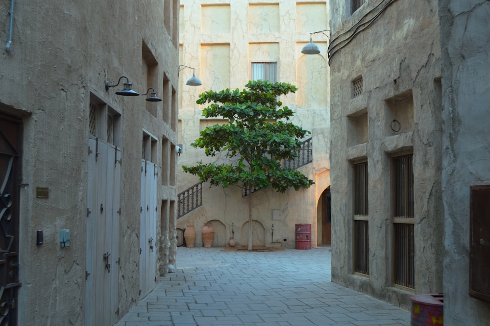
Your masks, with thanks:
<instances>
[{"instance_id":1,"label":"tall barred window nearer the camera on the right wall","mask_svg":"<svg viewBox=\"0 0 490 326\"><path fill-rule=\"evenodd\" d=\"M394 283L415 288L413 154L393 157ZM405 223L399 223L405 222Z\"/></svg>"}]
</instances>

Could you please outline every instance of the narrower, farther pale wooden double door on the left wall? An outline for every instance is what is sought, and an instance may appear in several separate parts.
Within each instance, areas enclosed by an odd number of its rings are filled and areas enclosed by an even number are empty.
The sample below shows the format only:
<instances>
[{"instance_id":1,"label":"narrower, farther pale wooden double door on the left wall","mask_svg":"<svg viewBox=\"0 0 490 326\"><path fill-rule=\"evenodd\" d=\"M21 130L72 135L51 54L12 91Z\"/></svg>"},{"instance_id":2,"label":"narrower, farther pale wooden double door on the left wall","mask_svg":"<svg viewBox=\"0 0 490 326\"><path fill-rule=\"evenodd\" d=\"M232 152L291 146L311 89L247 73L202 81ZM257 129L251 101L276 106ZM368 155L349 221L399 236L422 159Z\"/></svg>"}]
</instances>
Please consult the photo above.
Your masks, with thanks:
<instances>
[{"instance_id":1,"label":"narrower, farther pale wooden double door on the left wall","mask_svg":"<svg viewBox=\"0 0 490 326\"><path fill-rule=\"evenodd\" d=\"M156 282L157 166L141 162L140 215L140 298L153 290Z\"/></svg>"}]
</instances>

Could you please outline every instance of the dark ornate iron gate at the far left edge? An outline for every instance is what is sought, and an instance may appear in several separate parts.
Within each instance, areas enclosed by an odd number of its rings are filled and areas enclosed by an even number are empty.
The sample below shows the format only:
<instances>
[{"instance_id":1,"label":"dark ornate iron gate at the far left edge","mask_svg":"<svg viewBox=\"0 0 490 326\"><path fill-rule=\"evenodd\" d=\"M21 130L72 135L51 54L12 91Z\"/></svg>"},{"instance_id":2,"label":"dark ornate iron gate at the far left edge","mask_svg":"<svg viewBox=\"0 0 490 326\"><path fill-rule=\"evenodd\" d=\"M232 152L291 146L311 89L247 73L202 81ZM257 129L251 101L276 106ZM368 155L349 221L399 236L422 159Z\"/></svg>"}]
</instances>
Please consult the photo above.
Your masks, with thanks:
<instances>
[{"instance_id":1,"label":"dark ornate iron gate at the far left edge","mask_svg":"<svg viewBox=\"0 0 490 326\"><path fill-rule=\"evenodd\" d=\"M21 122L0 115L0 326L17 326Z\"/></svg>"}]
</instances>

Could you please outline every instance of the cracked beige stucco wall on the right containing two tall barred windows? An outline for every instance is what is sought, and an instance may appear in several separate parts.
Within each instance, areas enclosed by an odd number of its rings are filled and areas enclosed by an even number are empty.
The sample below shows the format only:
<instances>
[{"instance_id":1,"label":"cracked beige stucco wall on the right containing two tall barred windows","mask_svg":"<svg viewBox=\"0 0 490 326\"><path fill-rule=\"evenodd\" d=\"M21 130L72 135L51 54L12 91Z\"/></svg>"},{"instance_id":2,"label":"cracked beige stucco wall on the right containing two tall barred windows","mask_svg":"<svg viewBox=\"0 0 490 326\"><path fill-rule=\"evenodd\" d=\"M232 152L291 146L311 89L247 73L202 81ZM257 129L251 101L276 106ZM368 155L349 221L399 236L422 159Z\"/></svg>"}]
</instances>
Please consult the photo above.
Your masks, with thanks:
<instances>
[{"instance_id":1,"label":"cracked beige stucco wall on the right containing two tall barred windows","mask_svg":"<svg viewBox=\"0 0 490 326\"><path fill-rule=\"evenodd\" d=\"M380 2L350 15L332 1L330 47ZM383 7L382 5L379 7ZM410 307L409 295L442 291L441 86L437 1L396 0L330 58L332 280ZM352 81L362 75L362 94ZM408 96L409 103L402 100ZM393 109L393 103L401 105ZM407 114L402 114L405 111ZM390 125L396 117L398 132ZM394 129L397 129L396 127ZM391 158L413 152L415 290L393 286ZM368 161L369 276L353 273L353 164Z\"/></svg>"}]
</instances>

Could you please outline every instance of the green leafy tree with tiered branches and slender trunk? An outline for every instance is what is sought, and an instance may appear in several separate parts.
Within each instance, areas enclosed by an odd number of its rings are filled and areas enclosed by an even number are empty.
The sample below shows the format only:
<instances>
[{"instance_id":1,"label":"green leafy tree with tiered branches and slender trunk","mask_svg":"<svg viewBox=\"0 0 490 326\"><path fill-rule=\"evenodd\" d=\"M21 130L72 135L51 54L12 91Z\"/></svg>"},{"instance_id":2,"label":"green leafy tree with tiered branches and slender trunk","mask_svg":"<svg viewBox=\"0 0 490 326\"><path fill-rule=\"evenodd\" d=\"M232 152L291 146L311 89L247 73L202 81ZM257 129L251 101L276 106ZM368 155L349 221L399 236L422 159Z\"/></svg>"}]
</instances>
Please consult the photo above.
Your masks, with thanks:
<instances>
[{"instance_id":1,"label":"green leafy tree with tiered branches and slender trunk","mask_svg":"<svg viewBox=\"0 0 490 326\"><path fill-rule=\"evenodd\" d=\"M296 191L309 188L314 182L299 171L283 168L283 159L297 157L301 138L309 131L288 122L294 115L282 106L280 95L294 93L297 88L288 83L269 80L249 81L245 89L199 95L197 104L208 104L202 115L206 118L228 119L225 125L211 125L200 132L191 146L205 149L206 156L224 153L226 163L197 162L182 166L185 172L199 176L211 185L239 186L248 193L248 250L252 250L252 191L272 187L284 193L290 187Z\"/></svg>"}]
</instances>

